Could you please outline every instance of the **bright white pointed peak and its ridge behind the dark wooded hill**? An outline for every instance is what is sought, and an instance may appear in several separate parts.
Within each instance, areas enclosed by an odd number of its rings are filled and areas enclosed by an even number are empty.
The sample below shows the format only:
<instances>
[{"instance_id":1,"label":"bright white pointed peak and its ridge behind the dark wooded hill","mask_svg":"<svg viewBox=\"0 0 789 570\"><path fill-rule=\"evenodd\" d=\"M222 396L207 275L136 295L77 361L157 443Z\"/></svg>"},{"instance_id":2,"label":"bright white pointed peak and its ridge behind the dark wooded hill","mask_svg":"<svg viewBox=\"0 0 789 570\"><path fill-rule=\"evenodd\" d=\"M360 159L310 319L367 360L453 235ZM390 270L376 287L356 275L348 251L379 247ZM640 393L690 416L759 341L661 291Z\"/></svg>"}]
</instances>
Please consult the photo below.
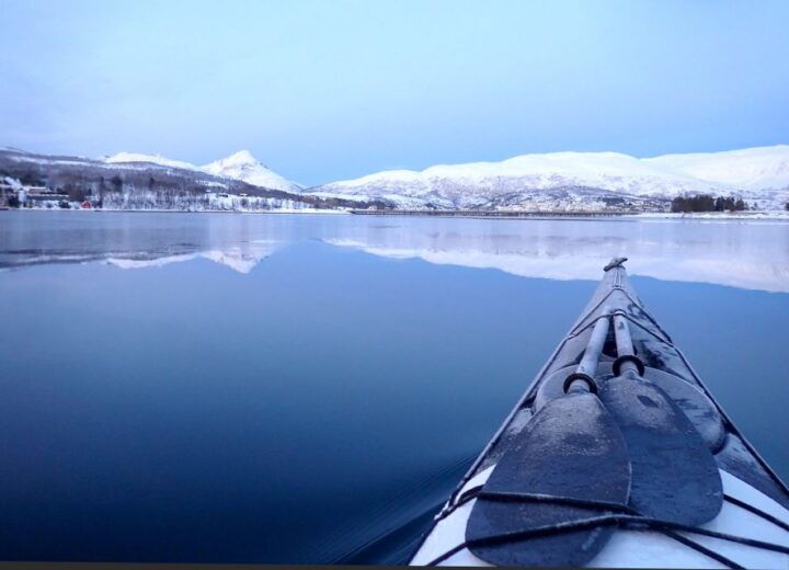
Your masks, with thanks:
<instances>
[{"instance_id":1,"label":"bright white pointed peak and its ridge behind the dark wooded hill","mask_svg":"<svg viewBox=\"0 0 789 570\"><path fill-rule=\"evenodd\" d=\"M202 167L182 160L172 160L160 155L139 152L118 152L103 160L113 164L152 163L161 167L194 170L219 178L240 180L253 186L285 192L299 192L301 190L298 184L264 167L249 150L240 150L235 155Z\"/></svg>"}]
</instances>

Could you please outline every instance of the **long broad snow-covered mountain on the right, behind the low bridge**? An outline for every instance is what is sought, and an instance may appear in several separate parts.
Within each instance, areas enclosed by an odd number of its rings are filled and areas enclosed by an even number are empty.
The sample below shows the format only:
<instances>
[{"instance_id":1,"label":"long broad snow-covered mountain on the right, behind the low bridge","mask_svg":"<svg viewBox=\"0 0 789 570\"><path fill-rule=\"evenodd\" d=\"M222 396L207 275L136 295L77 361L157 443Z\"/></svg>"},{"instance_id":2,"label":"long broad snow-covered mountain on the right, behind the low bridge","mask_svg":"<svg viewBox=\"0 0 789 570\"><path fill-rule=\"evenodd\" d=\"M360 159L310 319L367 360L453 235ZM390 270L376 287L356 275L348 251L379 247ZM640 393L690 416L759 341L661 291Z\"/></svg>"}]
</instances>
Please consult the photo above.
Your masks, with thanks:
<instances>
[{"instance_id":1,"label":"long broad snow-covered mountain on the right, behind the low bridge","mask_svg":"<svg viewBox=\"0 0 789 570\"><path fill-rule=\"evenodd\" d=\"M321 196L439 208L643 205L685 193L736 194L764 207L789 200L789 146L666 155L523 155L501 162L391 170L310 189Z\"/></svg>"}]
</instances>

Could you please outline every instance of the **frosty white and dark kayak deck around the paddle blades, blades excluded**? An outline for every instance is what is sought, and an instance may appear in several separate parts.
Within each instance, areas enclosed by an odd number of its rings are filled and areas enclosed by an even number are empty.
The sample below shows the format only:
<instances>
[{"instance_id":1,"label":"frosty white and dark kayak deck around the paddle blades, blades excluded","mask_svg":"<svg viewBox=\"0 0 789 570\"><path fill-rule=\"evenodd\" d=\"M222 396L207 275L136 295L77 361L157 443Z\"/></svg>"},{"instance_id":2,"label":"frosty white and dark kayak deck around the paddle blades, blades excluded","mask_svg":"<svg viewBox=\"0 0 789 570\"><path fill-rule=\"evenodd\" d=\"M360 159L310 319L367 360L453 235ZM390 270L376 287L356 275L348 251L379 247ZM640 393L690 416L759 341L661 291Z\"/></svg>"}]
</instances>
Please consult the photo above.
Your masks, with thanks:
<instances>
[{"instance_id":1,"label":"frosty white and dark kayak deck around the paddle blades, blades excluded","mask_svg":"<svg viewBox=\"0 0 789 570\"><path fill-rule=\"evenodd\" d=\"M591 559L585 566L789 567L789 490L739 432L690 367L682 351L673 344L671 337L647 311L627 277L622 261L615 260L605 267L603 281L578 321L460 480L444 509L436 515L433 526L423 537L411 560L412 565L490 566L488 560L479 558L474 552L490 560L534 560L534 557L518 558L518 556L529 549L533 551L525 554L533 555L534 550L546 550L549 548L548 544L561 545L562 537L567 538L564 547L575 548L568 545L572 543L571 533L578 533L579 525L582 524L578 514L574 515L575 518L571 516L567 521L541 526L536 531L531 528L534 524L529 526L529 521L517 521L514 516L508 524L516 534L521 531L521 535L515 538L493 536L493 542L498 545L493 550L498 554L491 552L490 556L488 554L490 548L480 547L484 540L480 540L478 534L479 528L484 528L488 523L483 509L485 497L491 494L493 479L501 479L499 476L491 478L491 474L496 472L500 464L499 472L506 469L505 465L513 463L511 459L517 453L517 448L534 444L528 441L529 437L544 436L534 435L539 433L535 430L535 424L539 422L533 420L540 412L542 415L548 413L546 410L553 406L551 402L554 400L567 399L565 380L582 363L595 324L602 319L610 320L616 316L617 321L625 320L629 328L634 356L622 356L615 332L610 331L602 346L593 384L605 387L606 383L610 383L621 374L622 367L628 366L625 364L626 361L637 362L639 369L634 377L648 385L659 387L659 391L671 400L672 409L681 409L693 424L694 437L700 436L706 448L709 449L709 454L713 457L711 465L714 465L719 471L723 501L713 518L688 527L663 520L649 522L640 513L628 513L627 505L622 505L620 511L616 509L601 511L603 517L598 517L599 523L595 520L583 524L593 529L615 527L616 531L610 538L605 539L606 543L598 552L590 551ZM506 460L503 461L503 458ZM637 459L633 457L632 460ZM538 477L533 479L539 482ZM485 487L489 480L491 485ZM671 501L675 491L672 489L663 491ZM536 499L560 503L567 498L516 498L519 501ZM568 512L576 511L578 509L568 510ZM639 516L638 521L633 520ZM469 524L469 520L472 524ZM501 521L498 524L501 524ZM526 532L527 536L524 537L522 535L525 531L522 527L531 531ZM529 533L541 533L541 538L537 539ZM560 542L547 542L545 536L558 537ZM512 551L507 552L507 549ZM502 554L515 557L501 558ZM536 554L537 560L548 560L544 562L545 566L557 560L550 557L540 558L539 551ZM576 552L570 554L574 556ZM572 560L581 559L583 556L567 558L564 566L575 565L576 562Z\"/></svg>"}]
</instances>

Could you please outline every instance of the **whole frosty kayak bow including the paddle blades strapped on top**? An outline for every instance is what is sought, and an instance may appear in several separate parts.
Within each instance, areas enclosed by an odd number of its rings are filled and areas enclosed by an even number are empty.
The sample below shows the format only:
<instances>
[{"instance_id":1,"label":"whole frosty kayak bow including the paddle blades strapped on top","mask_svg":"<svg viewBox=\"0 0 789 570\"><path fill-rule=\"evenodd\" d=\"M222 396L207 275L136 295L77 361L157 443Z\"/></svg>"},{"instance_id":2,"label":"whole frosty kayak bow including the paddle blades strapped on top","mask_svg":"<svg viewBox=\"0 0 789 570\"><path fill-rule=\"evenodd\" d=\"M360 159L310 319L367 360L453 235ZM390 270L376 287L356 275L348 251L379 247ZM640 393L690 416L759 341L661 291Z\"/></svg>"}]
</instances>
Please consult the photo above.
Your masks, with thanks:
<instances>
[{"instance_id":1,"label":"whole frosty kayak bow including the paddle blades strapped on top","mask_svg":"<svg viewBox=\"0 0 789 570\"><path fill-rule=\"evenodd\" d=\"M412 565L789 567L789 490L618 258Z\"/></svg>"}]
</instances>

